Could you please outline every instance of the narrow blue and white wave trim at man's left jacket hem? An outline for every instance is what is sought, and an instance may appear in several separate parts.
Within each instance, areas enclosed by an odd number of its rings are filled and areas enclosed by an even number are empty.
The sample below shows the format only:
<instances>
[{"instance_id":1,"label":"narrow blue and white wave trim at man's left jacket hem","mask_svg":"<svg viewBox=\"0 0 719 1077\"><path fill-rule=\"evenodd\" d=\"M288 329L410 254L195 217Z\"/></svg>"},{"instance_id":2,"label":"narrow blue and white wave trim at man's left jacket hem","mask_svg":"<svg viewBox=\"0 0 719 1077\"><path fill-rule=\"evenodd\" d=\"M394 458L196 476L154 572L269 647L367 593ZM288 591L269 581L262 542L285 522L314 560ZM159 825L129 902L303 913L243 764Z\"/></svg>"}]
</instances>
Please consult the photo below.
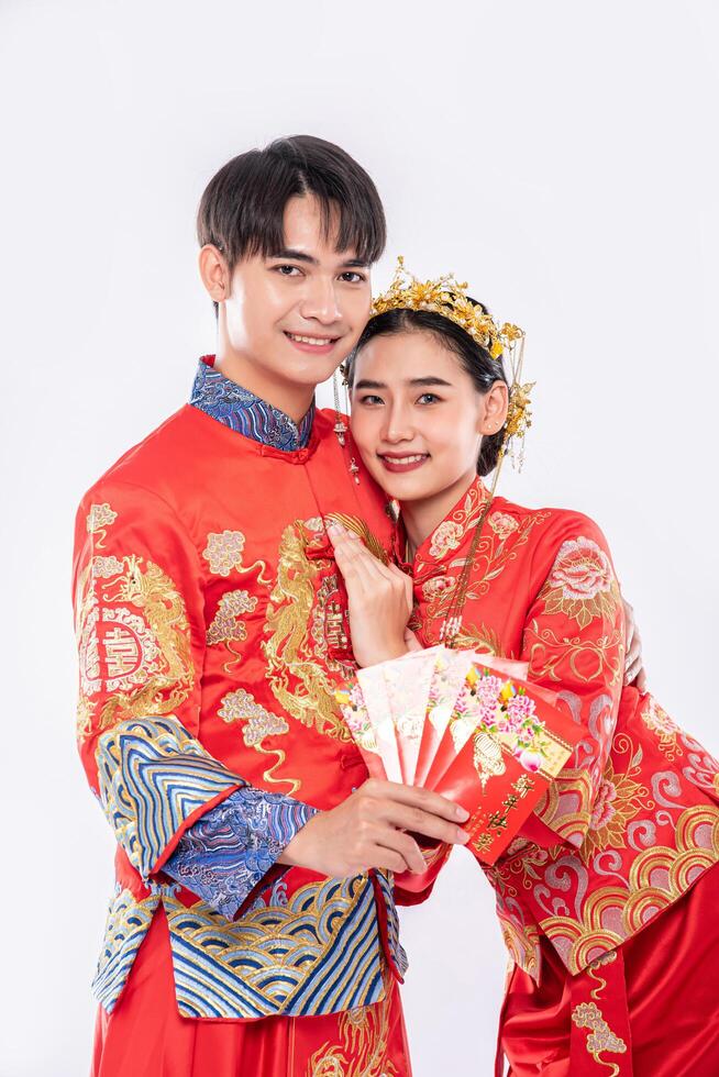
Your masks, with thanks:
<instances>
[{"instance_id":1,"label":"narrow blue and white wave trim at man's left jacket hem","mask_svg":"<svg viewBox=\"0 0 719 1077\"><path fill-rule=\"evenodd\" d=\"M112 1013L122 995L158 904L158 892L137 900L130 890L121 890L120 887L110 902L102 950L92 980L92 992L108 1013Z\"/></svg>"}]
</instances>

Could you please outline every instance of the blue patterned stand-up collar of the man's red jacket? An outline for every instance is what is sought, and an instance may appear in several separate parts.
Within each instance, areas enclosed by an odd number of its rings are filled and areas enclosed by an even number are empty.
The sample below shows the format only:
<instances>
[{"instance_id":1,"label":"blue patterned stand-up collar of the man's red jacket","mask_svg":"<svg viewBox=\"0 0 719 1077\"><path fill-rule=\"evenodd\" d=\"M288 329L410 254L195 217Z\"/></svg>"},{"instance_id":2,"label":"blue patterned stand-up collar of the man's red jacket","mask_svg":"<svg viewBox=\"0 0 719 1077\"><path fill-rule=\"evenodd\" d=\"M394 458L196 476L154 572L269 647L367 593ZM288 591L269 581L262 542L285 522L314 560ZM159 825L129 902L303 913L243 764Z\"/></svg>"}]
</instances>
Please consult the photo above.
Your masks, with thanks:
<instances>
[{"instance_id":1,"label":"blue patterned stand-up collar of the man's red jacket","mask_svg":"<svg viewBox=\"0 0 719 1077\"><path fill-rule=\"evenodd\" d=\"M314 401L298 425L279 408L215 370L213 359L211 355L200 359L190 396L195 408L263 445L286 453L307 447L314 421Z\"/></svg>"}]
</instances>

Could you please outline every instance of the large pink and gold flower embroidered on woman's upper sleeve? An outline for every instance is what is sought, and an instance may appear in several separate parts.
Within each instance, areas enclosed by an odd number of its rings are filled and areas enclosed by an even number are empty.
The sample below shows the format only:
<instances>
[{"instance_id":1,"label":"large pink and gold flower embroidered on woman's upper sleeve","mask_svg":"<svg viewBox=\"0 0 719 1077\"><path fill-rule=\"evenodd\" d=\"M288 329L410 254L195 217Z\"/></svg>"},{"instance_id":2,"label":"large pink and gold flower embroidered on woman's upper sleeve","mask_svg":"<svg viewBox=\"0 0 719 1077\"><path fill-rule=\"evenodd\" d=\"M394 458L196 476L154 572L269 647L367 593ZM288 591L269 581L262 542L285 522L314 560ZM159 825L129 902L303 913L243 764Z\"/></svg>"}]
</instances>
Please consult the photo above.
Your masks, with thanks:
<instances>
[{"instance_id":1,"label":"large pink and gold flower embroidered on woman's upper sleeve","mask_svg":"<svg viewBox=\"0 0 719 1077\"><path fill-rule=\"evenodd\" d=\"M546 614L564 613L580 629L595 618L613 620L619 587L604 549L582 536L562 543L540 598Z\"/></svg>"}]
</instances>

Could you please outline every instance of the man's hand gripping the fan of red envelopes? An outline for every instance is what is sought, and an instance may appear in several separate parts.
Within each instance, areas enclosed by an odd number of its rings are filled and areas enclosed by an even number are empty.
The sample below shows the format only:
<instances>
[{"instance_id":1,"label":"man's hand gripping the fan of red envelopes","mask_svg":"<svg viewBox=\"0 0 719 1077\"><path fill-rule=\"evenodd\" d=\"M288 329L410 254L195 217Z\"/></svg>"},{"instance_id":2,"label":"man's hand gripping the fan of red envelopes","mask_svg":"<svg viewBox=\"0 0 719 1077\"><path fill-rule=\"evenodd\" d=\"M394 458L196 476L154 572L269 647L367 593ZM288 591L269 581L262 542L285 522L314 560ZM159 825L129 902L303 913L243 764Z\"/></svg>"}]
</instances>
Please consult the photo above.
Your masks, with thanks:
<instances>
[{"instance_id":1,"label":"man's hand gripping the fan of red envelopes","mask_svg":"<svg viewBox=\"0 0 719 1077\"><path fill-rule=\"evenodd\" d=\"M335 878L362 875L373 867L421 874L424 857L407 832L464 845L469 835L458 823L468 818L464 808L439 793L369 778L343 803L310 819L279 863Z\"/></svg>"}]
</instances>

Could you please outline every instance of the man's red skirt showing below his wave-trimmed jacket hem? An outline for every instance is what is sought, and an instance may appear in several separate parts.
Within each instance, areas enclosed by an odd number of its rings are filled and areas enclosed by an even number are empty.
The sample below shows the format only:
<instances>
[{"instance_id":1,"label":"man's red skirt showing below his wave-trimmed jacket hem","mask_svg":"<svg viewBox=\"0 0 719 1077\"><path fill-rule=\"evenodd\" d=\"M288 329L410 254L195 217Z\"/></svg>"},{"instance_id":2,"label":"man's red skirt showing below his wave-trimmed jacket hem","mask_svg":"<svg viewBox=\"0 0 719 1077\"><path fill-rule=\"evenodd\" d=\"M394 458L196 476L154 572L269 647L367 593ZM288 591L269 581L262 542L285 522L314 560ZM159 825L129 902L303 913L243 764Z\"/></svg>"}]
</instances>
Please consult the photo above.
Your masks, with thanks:
<instances>
[{"instance_id":1,"label":"man's red skirt showing below his wave-trimmed jacket hem","mask_svg":"<svg viewBox=\"0 0 719 1077\"><path fill-rule=\"evenodd\" d=\"M180 1017L167 920L150 926L113 1012L98 1011L92 1077L409 1077L397 985L375 1006L311 1018Z\"/></svg>"}]
</instances>

